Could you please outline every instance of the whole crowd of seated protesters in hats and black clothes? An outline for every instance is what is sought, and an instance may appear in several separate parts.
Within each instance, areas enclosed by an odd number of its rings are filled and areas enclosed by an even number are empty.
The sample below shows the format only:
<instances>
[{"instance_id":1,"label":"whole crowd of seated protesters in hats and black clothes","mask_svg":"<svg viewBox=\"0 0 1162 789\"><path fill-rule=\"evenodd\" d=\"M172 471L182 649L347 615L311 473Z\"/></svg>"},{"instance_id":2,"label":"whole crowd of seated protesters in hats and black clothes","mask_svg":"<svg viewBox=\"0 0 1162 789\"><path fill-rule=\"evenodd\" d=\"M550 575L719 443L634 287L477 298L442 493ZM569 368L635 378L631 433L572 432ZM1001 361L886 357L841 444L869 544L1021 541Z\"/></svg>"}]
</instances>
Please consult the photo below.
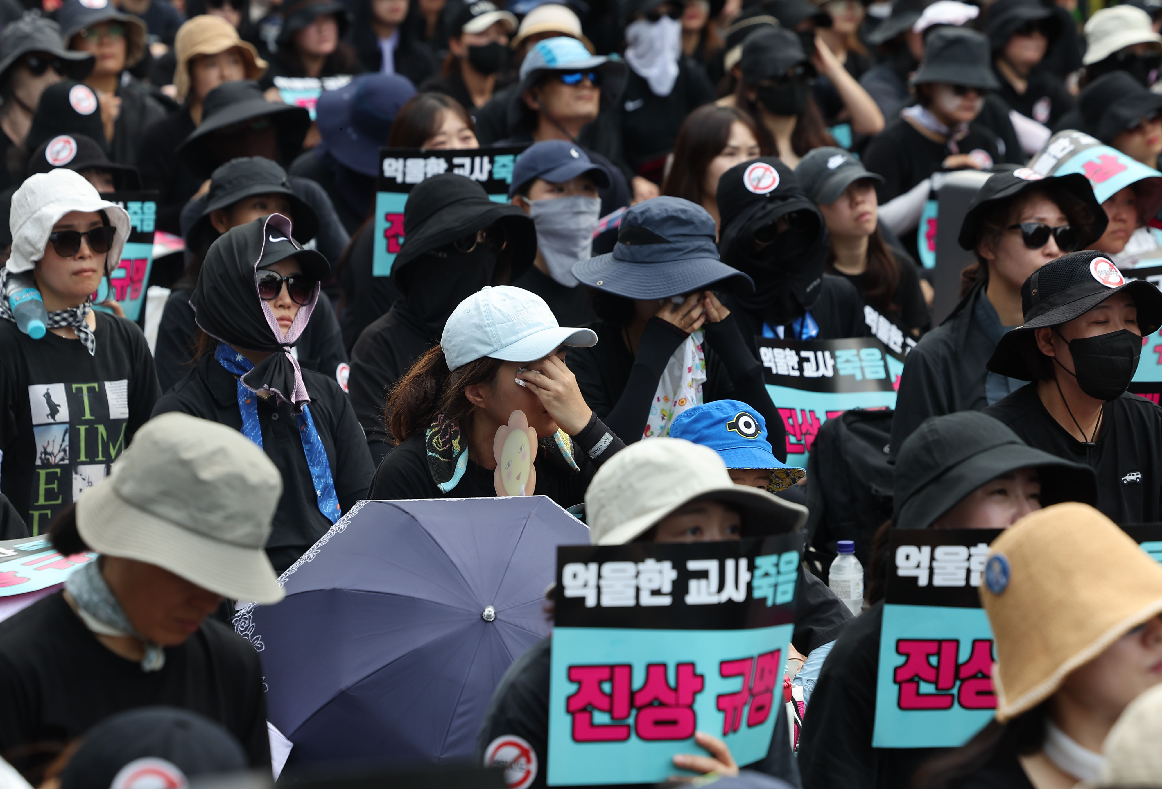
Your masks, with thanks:
<instances>
[{"instance_id":1,"label":"whole crowd of seated protesters in hats and black clothes","mask_svg":"<svg viewBox=\"0 0 1162 789\"><path fill-rule=\"evenodd\" d=\"M1154 0L0 0L0 540L100 554L0 616L0 789L266 775L236 604L277 604L360 501L493 496L514 411L594 545L806 531L791 715L759 761L700 731L675 769L1162 787L1162 567L1122 530L1162 524L1162 407L1131 392L1162 328L1134 275L1162 264ZM385 148L519 153L507 194L419 179L385 272ZM136 321L96 301L127 199L182 245ZM820 432L808 474L763 343L887 336L877 457ZM859 510L822 528L838 485ZM877 747L890 535L947 529L1003 530L995 717ZM514 655L479 759L547 765L552 644Z\"/></svg>"}]
</instances>

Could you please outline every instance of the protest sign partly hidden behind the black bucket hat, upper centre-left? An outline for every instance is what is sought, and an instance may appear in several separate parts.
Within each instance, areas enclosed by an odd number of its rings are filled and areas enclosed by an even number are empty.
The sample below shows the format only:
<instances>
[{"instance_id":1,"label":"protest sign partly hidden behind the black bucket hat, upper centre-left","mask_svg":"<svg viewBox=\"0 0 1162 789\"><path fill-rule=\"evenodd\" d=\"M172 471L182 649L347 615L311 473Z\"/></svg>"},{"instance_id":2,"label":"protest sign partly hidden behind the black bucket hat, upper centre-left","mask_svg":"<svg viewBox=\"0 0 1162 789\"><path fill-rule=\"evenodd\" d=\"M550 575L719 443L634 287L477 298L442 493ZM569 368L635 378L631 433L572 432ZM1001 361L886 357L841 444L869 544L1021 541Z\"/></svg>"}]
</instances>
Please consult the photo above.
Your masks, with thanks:
<instances>
[{"instance_id":1,"label":"protest sign partly hidden behind the black bucket hat, upper centre-left","mask_svg":"<svg viewBox=\"0 0 1162 789\"><path fill-rule=\"evenodd\" d=\"M416 184L444 173L471 178L485 187L488 199L508 202L512 168L526 145L433 151L418 148L380 150L379 185L375 194L375 242L372 273L389 277L403 243L403 206Z\"/></svg>"}]
</instances>

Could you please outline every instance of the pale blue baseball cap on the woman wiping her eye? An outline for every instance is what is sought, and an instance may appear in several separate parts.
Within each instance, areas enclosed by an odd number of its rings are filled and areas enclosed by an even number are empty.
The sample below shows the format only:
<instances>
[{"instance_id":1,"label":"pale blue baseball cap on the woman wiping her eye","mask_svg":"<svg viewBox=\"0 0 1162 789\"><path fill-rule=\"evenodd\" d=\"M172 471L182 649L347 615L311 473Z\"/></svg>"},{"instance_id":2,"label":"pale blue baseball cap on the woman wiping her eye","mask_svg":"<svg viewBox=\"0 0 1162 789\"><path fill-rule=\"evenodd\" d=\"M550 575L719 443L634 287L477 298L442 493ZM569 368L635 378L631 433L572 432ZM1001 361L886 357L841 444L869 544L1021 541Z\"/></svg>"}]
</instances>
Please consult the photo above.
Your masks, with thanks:
<instances>
[{"instance_id":1,"label":"pale blue baseball cap on the woman wiping her eye","mask_svg":"<svg viewBox=\"0 0 1162 789\"><path fill-rule=\"evenodd\" d=\"M536 293L497 285L457 304L439 344L451 371L485 357L536 361L561 345L596 345L597 335L591 329L558 325L553 310Z\"/></svg>"}]
</instances>

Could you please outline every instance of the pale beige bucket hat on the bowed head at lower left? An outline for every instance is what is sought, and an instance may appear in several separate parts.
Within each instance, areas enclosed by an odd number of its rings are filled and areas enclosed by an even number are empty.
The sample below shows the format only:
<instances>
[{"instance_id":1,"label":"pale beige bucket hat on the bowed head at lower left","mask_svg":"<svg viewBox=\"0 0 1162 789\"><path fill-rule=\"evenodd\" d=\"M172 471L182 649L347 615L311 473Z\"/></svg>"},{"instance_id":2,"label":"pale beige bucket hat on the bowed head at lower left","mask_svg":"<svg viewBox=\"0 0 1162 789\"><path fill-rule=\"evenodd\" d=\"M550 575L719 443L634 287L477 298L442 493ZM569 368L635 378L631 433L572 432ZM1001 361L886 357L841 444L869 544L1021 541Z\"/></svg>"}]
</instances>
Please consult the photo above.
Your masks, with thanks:
<instances>
[{"instance_id":1,"label":"pale beige bucket hat on the bowed head at lower left","mask_svg":"<svg viewBox=\"0 0 1162 789\"><path fill-rule=\"evenodd\" d=\"M230 600L282 600L263 546L282 476L237 430L186 414L146 422L105 480L77 502L85 544Z\"/></svg>"}]
</instances>

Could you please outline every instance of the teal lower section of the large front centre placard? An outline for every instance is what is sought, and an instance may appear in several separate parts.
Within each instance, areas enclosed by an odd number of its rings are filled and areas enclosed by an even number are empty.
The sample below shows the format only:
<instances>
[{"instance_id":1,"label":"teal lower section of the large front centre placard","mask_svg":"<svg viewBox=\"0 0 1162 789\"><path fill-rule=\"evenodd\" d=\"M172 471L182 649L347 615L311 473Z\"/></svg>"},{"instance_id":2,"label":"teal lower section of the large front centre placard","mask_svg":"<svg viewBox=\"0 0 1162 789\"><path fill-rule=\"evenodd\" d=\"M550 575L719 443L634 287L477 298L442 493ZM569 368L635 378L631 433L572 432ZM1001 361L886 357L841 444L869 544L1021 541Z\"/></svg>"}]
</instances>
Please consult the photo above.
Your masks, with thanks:
<instances>
[{"instance_id":1,"label":"teal lower section of the large front centre placard","mask_svg":"<svg viewBox=\"0 0 1162 789\"><path fill-rule=\"evenodd\" d=\"M665 664L667 684L677 688L681 694L679 665L694 664L694 673L702 677L703 684L691 705L696 729L722 738L739 765L762 759L770 747L775 716L786 715L782 676L791 630L789 624L753 630L554 627L548 694L548 786L658 783L682 773L674 766L674 754L705 755L693 737L681 740L641 739L639 734L644 730L637 716L640 709L650 709L645 706L630 710L629 717L616 720L611 718L611 712L581 712L591 715L593 725L625 725L623 731L627 737L621 741L575 741L575 722L568 712L568 700L580 690L581 684L569 680L569 667L629 665L632 667L629 687L638 691L646 682L647 665ZM756 719L754 726L748 725L751 704L755 698L752 696L746 715L739 712L741 720L738 730L724 734L727 715L719 710L719 704L727 709L731 706L729 701L720 702L719 696L738 694L744 681L740 675L722 676L723 661L756 658L776 650L777 673L773 679L773 703L768 713L756 716L762 717L761 723ZM725 670L727 674L731 672L730 668ZM602 690L605 694L616 693L611 681L603 682Z\"/></svg>"}]
</instances>

